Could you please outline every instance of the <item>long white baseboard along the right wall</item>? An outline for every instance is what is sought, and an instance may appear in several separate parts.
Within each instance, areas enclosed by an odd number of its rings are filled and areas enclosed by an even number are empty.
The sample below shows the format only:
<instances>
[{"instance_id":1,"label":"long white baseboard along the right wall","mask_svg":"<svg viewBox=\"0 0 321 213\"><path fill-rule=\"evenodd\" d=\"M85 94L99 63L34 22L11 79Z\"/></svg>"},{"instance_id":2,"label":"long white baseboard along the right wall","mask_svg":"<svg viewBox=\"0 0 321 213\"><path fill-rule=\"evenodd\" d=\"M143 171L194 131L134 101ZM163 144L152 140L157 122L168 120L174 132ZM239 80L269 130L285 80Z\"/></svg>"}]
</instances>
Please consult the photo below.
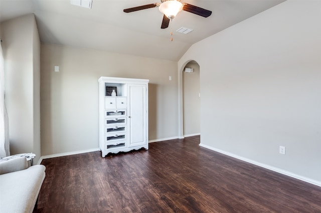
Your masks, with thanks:
<instances>
[{"instance_id":1,"label":"long white baseboard along the right wall","mask_svg":"<svg viewBox=\"0 0 321 213\"><path fill-rule=\"evenodd\" d=\"M257 162L257 161L254 161L254 160L251 160L251 159L248 159L248 158L233 154L231 152L223 151L221 149L214 148L212 146L208 146L208 145L205 145L203 143L200 143L199 145L203 146L205 148L211 149L213 151L217 151L217 152L220 152L222 154L225 154L225 155L228 155L228 156L231 156L231 157L234 157L234 158L237 158L237 159L252 163L254 165L258 165L258 166L261 166L263 168L267 168L269 170L276 171L276 172L281 173L281 174L285 174L287 176L302 180L304 182L308 182L308 183L311 183L311 184L314 184L314 185L317 185L317 186L321 186L321 182L320 181L317 181L317 180L314 180L314 179L311 179L311 178L308 178L308 177L305 177L305 176L301 176L301 175L292 173L290 171L287 171L287 170L284 170L284 169L281 169L281 168L278 168L278 167L274 167L274 166L271 166L271 165L268 165L268 164L260 163L260 162Z\"/></svg>"}]
</instances>

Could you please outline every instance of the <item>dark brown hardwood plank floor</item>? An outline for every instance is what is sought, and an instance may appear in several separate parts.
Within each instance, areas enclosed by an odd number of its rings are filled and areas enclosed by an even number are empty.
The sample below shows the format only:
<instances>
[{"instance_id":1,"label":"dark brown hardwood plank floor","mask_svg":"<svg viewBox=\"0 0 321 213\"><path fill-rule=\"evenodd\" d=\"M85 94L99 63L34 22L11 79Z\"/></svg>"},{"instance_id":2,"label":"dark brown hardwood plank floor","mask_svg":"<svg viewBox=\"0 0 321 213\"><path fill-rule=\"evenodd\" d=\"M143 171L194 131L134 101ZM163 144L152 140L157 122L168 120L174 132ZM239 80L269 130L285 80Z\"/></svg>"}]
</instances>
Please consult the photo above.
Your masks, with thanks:
<instances>
[{"instance_id":1,"label":"dark brown hardwood plank floor","mask_svg":"<svg viewBox=\"0 0 321 213\"><path fill-rule=\"evenodd\" d=\"M200 137L44 159L34 212L321 212L321 187L199 146Z\"/></svg>"}]
</instances>

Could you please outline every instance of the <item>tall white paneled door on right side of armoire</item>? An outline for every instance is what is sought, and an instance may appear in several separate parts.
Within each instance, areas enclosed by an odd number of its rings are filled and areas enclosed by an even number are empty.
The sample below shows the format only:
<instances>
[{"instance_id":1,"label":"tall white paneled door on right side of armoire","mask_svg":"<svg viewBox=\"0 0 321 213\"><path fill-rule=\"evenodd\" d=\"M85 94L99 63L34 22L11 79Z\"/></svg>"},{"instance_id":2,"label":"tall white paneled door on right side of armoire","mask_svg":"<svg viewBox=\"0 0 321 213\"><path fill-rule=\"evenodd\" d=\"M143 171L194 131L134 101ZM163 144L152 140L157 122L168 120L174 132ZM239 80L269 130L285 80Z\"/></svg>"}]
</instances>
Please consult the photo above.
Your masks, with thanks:
<instances>
[{"instance_id":1,"label":"tall white paneled door on right side of armoire","mask_svg":"<svg viewBox=\"0 0 321 213\"><path fill-rule=\"evenodd\" d=\"M146 138L146 86L128 84L129 147L144 145Z\"/></svg>"}]
</instances>

